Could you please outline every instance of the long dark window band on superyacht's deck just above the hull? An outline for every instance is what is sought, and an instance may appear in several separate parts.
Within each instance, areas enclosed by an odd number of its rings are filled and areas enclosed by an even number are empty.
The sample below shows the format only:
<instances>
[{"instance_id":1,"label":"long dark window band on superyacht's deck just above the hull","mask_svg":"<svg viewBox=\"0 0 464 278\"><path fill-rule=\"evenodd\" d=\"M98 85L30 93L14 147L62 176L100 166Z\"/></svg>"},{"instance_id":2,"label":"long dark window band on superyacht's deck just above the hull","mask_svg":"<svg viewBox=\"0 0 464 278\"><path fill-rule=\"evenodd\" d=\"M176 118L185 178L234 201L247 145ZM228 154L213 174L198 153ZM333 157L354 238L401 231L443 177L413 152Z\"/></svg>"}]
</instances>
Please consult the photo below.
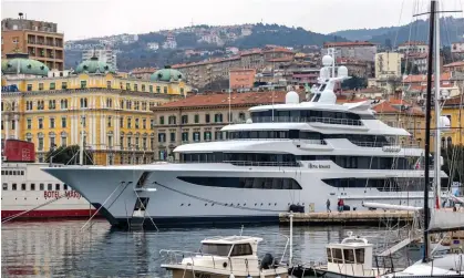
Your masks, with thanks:
<instances>
[{"instance_id":1,"label":"long dark window band on superyacht's deck just above the hull","mask_svg":"<svg viewBox=\"0 0 464 278\"><path fill-rule=\"evenodd\" d=\"M187 153L181 155L184 163L231 163L234 165L299 166L297 161L332 161L343 168L361 169L413 169L415 157L378 157L342 155L292 155L264 153Z\"/></svg>"}]
</instances>

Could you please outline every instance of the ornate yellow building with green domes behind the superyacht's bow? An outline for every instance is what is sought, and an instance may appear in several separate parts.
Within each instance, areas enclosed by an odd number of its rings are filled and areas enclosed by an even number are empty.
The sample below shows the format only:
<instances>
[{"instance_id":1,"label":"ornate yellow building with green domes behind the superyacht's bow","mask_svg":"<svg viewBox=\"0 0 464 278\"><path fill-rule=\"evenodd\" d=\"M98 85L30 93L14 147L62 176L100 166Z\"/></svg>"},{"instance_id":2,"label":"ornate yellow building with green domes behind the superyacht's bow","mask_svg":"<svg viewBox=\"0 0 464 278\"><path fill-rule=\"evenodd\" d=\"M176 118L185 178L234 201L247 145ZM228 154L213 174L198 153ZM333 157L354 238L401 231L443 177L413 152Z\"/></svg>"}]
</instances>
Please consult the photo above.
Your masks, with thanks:
<instances>
[{"instance_id":1,"label":"ornate yellow building with green domes behind the superyacht's bow","mask_svg":"<svg viewBox=\"0 0 464 278\"><path fill-rule=\"evenodd\" d=\"M1 137L33 142L38 161L47 159L52 145L78 145L83 130L95 164L151 162L156 145L151 109L192 91L176 70L127 79L95 58L51 78L47 65L27 54L8 55L1 69Z\"/></svg>"}]
</instances>

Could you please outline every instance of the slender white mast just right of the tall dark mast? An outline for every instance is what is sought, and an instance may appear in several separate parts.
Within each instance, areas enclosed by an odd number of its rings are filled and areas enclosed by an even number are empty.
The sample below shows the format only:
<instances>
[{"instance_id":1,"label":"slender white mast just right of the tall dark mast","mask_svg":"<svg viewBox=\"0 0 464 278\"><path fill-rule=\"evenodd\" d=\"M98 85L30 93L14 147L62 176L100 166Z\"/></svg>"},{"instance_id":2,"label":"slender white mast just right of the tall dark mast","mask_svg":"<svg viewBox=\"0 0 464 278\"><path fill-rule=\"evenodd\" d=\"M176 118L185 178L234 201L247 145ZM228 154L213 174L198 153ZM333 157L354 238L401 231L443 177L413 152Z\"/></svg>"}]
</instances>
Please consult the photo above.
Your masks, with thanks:
<instances>
[{"instance_id":1,"label":"slender white mast just right of the tall dark mast","mask_svg":"<svg viewBox=\"0 0 464 278\"><path fill-rule=\"evenodd\" d=\"M435 0L436 3L439 3L439 0ZM440 109L440 16L435 14L435 165L434 165L434 176L435 176L435 207L440 208L441 206L441 178L440 178L440 168L441 168L441 109ZM429 50L429 55L432 55L432 50Z\"/></svg>"}]
</instances>

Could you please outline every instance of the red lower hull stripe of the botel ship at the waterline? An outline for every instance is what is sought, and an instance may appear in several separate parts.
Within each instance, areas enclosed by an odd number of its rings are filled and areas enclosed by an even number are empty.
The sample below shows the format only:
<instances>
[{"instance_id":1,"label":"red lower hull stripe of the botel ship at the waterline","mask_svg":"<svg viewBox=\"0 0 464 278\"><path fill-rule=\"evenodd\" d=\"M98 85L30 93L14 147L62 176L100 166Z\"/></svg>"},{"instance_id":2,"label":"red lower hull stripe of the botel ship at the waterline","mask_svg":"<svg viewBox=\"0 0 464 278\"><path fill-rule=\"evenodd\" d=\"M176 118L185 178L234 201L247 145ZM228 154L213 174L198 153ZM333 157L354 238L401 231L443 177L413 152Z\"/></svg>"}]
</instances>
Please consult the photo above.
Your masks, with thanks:
<instances>
[{"instance_id":1,"label":"red lower hull stripe of the botel ship at the waterline","mask_svg":"<svg viewBox=\"0 0 464 278\"><path fill-rule=\"evenodd\" d=\"M49 209L49 210L32 210L21 215L17 219L25 218L68 218L68 217L90 217L96 209ZM24 210L1 210L1 218L7 218Z\"/></svg>"}]
</instances>

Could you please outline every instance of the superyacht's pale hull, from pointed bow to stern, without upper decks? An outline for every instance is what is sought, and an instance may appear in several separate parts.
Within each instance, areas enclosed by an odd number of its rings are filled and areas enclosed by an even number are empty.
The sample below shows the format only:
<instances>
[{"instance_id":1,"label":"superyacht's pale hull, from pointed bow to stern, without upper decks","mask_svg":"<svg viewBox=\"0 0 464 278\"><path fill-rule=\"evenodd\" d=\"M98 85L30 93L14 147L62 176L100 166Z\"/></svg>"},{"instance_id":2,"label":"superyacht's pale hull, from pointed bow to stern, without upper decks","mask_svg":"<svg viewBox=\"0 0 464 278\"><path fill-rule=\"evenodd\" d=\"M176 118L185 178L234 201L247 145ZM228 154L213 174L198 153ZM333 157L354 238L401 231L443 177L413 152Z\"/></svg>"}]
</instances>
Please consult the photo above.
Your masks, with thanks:
<instances>
[{"instance_id":1,"label":"superyacht's pale hull, from pointed bow to stern, without upper decks","mask_svg":"<svg viewBox=\"0 0 464 278\"><path fill-rule=\"evenodd\" d=\"M326 202L337 210L342 197L351 209L363 208L363 202L422 206L423 193L389 192L377 188L332 187L324 178L415 178L423 171L373 171L305 167L256 167L231 164L162 164L114 167L45 168L71 185L113 225L127 225L134 216L152 217L155 224L185 225L186 223L219 223L247 220L278 222L278 215L290 205L305 206L306 212L326 212ZM137 182L147 173L142 188ZM204 186L181 181L178 177L268 177L291 178L301 189L231 188L221 184ZM423 182L422 182L423 183ZM146 210L135 209L137 199L149 198ZM143 210L143 209L142 209ZM149 224L145 220L145 224Z\"/></svg>"}]
</instances>

